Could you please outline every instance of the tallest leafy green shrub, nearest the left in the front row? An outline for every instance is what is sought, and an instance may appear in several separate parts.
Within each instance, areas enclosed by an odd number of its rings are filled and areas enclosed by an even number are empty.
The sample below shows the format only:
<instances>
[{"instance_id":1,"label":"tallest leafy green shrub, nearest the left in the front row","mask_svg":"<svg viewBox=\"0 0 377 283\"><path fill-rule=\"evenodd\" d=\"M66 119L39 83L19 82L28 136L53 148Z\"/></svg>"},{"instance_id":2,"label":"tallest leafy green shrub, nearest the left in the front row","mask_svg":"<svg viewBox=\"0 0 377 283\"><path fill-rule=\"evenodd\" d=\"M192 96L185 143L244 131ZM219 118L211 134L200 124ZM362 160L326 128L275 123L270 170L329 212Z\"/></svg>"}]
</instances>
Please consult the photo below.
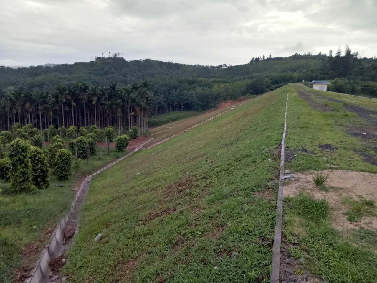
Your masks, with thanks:
<instances>
[{"instance_id":1,"label":"tallest leafy green shrub, nearest the left in the front row","mask_svg":"<svg viewBox=\"0 0 377 283\"><path fill-rule=\"evenodd\" d=\"M35 190L32 182L32 168L29 154L29 141L16 138L9 144L9 158L11 159L11 168L9 170L11 180L10 191L13 193Z\"/></svg>"}]
</instances>

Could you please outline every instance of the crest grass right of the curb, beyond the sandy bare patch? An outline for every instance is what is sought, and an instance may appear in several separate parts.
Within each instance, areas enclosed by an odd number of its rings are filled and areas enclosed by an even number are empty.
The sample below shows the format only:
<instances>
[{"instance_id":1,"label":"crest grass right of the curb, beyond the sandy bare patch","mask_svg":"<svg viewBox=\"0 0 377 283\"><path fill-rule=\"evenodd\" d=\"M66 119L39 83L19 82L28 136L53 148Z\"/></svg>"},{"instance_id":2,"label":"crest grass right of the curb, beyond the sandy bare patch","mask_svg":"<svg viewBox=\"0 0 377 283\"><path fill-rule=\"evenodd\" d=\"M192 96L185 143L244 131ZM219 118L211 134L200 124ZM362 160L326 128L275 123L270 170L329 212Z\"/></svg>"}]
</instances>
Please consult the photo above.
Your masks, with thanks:
<instances>
[{"instance_id":1,"label":"crest grass right of the curb, beyond the sandy bare patch","mask_svg":"<svg viewBox=\"0 0 377 283\"><path fill-rule=\"evenodd\" d=\"M299 85L291 85L295 89L307 88ZM286 169L296 172L306 170L322 170L339 166L339 169L365 171L376 173L377 166L363 161L363 157L355 152L363 150L369 154L375 154L372 148L363 143L359 137L351 137L347 134L348 125L364 125L366 121L357 117L355 113L345 111L341 103L323 101L315 96L312 99L323 103L331 103L335 111L315 111L303 100L297 92L289 98L286 152L296 154L292 161L285 164ZM365 99L365 98L359 98ZM339 109L342 110L339 110ZM333 145L334 151L320 149L319 145ZM312 153L302 152L306 149Z\"/></svg>"}]
</instances>

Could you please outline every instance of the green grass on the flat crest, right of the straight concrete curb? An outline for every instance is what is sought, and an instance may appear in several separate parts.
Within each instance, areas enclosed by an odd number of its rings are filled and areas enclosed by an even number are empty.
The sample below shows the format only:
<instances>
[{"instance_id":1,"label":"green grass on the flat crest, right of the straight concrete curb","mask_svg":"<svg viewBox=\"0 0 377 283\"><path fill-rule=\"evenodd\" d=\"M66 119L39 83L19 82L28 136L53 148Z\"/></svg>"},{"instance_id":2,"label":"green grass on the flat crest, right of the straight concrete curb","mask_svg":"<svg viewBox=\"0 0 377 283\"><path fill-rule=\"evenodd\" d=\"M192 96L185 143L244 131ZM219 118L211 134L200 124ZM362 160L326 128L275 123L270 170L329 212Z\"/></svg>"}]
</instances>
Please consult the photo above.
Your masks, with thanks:
<instances>
[{"instance_id":1,"label":"green grass on the flat crest, right of the straight concrete curb","mask_svg":"<svg viewBox=\"0 0 377 283\"><path fill-rule=\"evenodd\" d=\"M298 85L293 87L301 88ZM334 165L339 166L336 169L377 172L377 166L363 162L354 151L362 149L372 153L371 148L345 131L348 124L366 122L355 114L337 111L337 107L334 109L333 112L314 111L298 94L290 95L286 145L297 156L286 162L285 168L307 171ZM321 144L331 144L338 149L319 149ZM301 152L302 148L312 153ZM372 205L371 202L368 204ZM376 282L375 231L359 229L350 235L341 233L330 223L330 212L335 208L326 200L314 200L309 195L285 198L284 207L285 239L304 255L305 269L325 282Z\"/></svg>"}]
</instances>

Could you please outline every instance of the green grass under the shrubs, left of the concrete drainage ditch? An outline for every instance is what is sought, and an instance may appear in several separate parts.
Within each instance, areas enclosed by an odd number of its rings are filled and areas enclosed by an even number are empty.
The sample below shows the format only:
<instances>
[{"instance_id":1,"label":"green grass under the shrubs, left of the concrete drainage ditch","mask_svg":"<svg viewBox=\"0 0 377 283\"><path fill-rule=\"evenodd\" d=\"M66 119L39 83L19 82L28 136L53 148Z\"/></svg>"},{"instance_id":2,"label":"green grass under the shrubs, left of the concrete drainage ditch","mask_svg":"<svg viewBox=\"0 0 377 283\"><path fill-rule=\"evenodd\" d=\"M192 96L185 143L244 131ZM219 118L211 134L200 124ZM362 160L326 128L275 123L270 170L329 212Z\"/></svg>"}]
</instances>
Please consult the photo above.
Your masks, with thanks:
<instances>
[{"instance_id":1,"label":"green grass under the shrubs, left of the concrete drainage ditch","mask_svg":"<svg viewBox=\"0 0 377 283\"><path fill-rule=\"evenodd\" d=\"M80 168L74 168L72 161L72 175L69 180L58 181L50 174L50 188L32 194L9 195L9 183L0 183L0 282L14 281L15 273L21 267L21 253L26 245L31 246L34 252L32 255L24 255L33 264L26 268L34 267L39 250L70 208L74 197L73 185L84 175L120 156L115 149L110 149L110 154L107 155L104 148L97 148L97 155L90 157L89 163L82 161ZM63 187L58 186L59 184ZM30 252L30 249L28 251Z\"/></svg>"}]
</instances>

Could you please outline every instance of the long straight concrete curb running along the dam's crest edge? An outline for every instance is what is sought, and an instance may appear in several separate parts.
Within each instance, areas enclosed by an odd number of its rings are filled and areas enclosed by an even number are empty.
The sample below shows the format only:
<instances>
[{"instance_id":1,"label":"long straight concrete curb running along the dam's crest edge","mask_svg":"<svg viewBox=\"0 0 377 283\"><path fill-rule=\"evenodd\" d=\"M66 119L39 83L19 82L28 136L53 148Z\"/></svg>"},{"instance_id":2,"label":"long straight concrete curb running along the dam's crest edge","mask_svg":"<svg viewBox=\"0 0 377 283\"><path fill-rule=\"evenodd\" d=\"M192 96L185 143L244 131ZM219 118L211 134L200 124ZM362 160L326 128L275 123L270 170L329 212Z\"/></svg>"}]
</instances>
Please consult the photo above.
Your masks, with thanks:
<instances>
[{"instance_id":1,"label":"long straight concrete curb running along the dam's crest edge","mask_svg":"<svg viewBox=\"0 0 377 283\"><path fill-rule=\"evenodd\" d=\"M288 111L288 96L285 102L285 115L284 115L284 131L281 143L280 155L280 174L279 174L279 192L277 195L277 208L276 208L276 223L275 223L275 236L274 245L272 250L272 266L271 266L271 283L279 283L280 281L280 246L282 241L282 217L283 217L283 177L284 177L284 142L287 135L287 111Z\"/></svg>"}]
</instances>

